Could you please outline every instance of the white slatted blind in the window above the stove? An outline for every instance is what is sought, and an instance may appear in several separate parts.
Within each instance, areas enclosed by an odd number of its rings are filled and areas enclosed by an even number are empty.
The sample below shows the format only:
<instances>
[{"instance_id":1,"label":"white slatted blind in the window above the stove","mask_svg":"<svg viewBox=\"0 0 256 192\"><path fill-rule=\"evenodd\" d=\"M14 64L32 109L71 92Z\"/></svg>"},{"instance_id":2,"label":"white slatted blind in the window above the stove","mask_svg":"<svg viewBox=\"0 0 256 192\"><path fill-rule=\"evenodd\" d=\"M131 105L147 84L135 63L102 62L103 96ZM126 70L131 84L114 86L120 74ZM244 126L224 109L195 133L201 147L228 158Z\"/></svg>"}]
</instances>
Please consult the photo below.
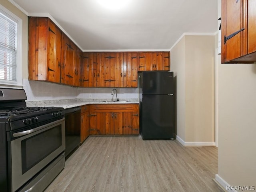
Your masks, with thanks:
<instances>
[{"instance_id":1,"label":"white slatted blind in the window above the stove","mask_svg":"<svg viewBox=\"0 0 256 192\"><path fill-rule=\"evenodd\" d=\"M17 82L18 21L0 11L0 81Z\"/></svg>"}]
</instances>

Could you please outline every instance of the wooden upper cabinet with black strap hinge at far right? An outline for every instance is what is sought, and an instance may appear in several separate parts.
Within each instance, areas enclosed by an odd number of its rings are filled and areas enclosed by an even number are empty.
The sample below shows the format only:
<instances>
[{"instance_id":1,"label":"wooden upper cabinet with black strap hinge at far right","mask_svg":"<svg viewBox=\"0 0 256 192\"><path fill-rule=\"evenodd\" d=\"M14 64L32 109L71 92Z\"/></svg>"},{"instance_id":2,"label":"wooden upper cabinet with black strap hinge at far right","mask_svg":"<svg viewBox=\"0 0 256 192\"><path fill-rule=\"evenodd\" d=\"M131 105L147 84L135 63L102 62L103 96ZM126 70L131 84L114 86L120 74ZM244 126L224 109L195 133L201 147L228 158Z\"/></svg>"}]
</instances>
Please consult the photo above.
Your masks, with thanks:
<instances>
[{"instance_id":1,"label":"wooden upper cabinet with black strap hinge at far right","mask_svg":"<svg viewBox=\"0 0 256 192\"><path fill-rule=\"evenodd\" d=\"M256 0L222 0L221 62L256 61Z\"/></svg>"}]
</instances>

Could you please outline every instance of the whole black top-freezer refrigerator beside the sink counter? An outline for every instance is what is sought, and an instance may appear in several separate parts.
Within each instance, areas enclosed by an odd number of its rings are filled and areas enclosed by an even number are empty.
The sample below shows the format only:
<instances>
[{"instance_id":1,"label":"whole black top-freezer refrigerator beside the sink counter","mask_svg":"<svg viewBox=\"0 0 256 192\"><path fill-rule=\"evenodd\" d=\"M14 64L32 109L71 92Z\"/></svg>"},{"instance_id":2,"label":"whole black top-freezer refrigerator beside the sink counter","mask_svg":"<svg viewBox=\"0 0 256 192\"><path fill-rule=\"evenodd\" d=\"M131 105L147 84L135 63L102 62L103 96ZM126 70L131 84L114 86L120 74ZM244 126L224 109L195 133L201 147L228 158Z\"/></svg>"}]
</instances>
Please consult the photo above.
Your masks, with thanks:
<instances>
[{"instance_id":1,"label":"whole black top-freezer refrigerator beside the sink counter","mask_svg":"<svg viewBox=\"0 0 256 192\"><path fill-rule=\"evenodd\" d=\"M142 72L139 91L142 139L175 140L173 72Z\"/></svg>"}]
</instances>

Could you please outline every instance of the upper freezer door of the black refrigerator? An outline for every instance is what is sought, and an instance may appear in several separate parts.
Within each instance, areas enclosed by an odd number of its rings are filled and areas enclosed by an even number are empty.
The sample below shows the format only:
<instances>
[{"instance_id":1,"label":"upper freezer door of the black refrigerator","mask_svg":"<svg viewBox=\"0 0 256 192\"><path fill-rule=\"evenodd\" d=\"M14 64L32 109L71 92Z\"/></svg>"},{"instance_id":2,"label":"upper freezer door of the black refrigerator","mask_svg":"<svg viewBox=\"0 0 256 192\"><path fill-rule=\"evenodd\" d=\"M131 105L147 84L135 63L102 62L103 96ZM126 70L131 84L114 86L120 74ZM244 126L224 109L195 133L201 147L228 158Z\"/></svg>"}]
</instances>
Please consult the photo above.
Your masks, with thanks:
<instances>
[{"instance_id":1,"label":"upper freezer door of the black refrigerator","mask_svg":"<svg viewBox=\"0 0 256 192\"><path fill-rule=\"evenodd\" d=\"M173 94L173 72L142 72L143 94Z\"/></svg>"}]
</instances>

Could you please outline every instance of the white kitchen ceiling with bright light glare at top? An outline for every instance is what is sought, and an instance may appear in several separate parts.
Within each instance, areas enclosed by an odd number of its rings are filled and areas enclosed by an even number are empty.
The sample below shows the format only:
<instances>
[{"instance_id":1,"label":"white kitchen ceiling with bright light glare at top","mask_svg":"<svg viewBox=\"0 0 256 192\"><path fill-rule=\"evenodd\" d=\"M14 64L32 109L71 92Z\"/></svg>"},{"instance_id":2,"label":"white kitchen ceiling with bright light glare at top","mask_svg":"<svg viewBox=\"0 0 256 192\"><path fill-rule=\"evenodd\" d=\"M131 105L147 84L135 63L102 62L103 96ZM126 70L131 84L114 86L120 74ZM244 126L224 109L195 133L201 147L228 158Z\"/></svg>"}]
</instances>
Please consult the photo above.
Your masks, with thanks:
<instances>
[{"instance_id":1,"label":"white kitchen ceiling with bright light glare at top","mask_svg":"<svg viewBox=\"0 0 256 192\"><path fill-rule=\"evenodd\" d=\"M100 0L9 1L28 16L53 18L83 51L170 50L184 32L218 30L217 0L127 0L117 9Z\"/></svg>"}]
</instances>

